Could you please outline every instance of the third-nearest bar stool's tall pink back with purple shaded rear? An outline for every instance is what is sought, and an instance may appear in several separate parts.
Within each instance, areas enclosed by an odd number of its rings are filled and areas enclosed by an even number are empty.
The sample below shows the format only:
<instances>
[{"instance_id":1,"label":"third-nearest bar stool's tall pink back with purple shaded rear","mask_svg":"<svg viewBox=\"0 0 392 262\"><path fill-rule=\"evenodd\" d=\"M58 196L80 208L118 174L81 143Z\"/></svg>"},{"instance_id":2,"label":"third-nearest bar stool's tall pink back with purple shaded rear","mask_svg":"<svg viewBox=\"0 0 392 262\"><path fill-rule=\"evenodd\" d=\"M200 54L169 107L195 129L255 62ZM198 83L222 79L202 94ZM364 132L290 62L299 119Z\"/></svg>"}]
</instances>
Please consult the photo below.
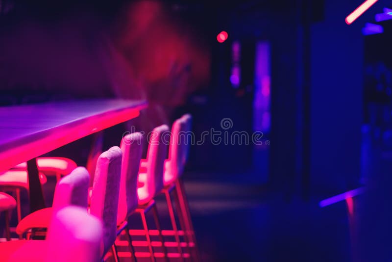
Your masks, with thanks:
<instances>
[{"instance_id":1,"label":"third-nearest bar stool's tall pink back with purple shaded rear","mask_svg":"<svg viewBox=\"0 0 392 262\"><path fill-rule=\"evenodd\" d=\"M114 243L117 236L122 158L119 147L111 147L98 157L90 205L90 213L103 221L101 257L112 247L117 260L119 257Z\"/></svg>"}]
</instances>

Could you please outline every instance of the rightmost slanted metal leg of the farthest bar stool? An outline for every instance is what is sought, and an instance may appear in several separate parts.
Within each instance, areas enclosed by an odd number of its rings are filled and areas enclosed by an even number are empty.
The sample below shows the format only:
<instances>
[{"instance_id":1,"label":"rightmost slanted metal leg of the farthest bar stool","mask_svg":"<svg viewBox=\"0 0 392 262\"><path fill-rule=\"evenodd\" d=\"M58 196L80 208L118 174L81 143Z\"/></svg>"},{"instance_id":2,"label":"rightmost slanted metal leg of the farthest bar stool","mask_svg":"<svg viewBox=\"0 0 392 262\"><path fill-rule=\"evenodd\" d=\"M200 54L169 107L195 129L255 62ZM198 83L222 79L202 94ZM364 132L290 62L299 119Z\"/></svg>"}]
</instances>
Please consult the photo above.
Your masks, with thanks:
<instances>
[{"instance_id":1,"label":"rightmost slanted metal leg of the farthest bar stool","mask_svg":"<svg viewBox=\"0 0 392 262\"><path fill-rule=\"evenodd\" d=\"M195 236L195 230L192 223L191 212L189 210L188 199L186 197L184 183L182 182L181 178L177 179L177 181L175 182L175 190L180 204L179 208L185 221L186 230L188 231L188 236L191 236L191 240L194 244L196 261L201 261Z\"/></svg>"}]
</instances>

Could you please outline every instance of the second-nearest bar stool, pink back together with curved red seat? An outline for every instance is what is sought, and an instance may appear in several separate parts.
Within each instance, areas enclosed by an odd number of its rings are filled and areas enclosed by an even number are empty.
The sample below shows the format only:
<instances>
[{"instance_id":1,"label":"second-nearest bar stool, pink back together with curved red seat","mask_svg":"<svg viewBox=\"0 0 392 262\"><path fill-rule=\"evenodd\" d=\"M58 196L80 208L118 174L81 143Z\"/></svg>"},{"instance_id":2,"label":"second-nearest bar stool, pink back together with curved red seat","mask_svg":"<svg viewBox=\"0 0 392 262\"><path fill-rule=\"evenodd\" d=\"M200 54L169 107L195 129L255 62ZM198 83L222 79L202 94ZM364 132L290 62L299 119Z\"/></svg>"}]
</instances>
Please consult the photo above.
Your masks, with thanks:
<instances>
[{"instance_id":1,"label":"second-nearest bar stool, pink back together with curved red seat","mask_svg":"<svg viewBox=\"0 0 392 262\"><path fill-rule=\"evenodd\" d=\"M54 190L53 206L51 208L37 210L27 215L19 222L16 227L16 233L22 236L30 229L48 228L52 213L63 207L73 205L87 209L87 190L89 184L90 175L87 169L84 167L75 168L71 174L57 182ZM35 234L38 235L38 233Z\"/></svg>"}]
</instances>

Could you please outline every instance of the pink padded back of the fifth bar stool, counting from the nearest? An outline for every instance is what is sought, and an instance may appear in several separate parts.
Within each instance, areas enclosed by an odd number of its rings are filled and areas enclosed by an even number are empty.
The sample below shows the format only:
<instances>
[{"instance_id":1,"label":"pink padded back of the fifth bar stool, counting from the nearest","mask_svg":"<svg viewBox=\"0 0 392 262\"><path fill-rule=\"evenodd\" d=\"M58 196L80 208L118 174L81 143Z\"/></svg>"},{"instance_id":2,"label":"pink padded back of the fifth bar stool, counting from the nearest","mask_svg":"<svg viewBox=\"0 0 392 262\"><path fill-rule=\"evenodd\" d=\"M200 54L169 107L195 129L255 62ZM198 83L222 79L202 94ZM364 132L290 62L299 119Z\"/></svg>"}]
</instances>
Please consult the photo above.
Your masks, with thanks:
<instances>
[{"instance_id":1,"label":"pink padded back of the fifth bar stool, counting from the nearest","mask_svg":"<svg viewBox=\"0 0 392 262\"><path fill-rule=\"evenodd\" d=\"M170 143L163 140L165 132L169 132L167 125L154 128L148 143L146 186L149 195L156 195L163 188L163 166Z\"/></svg>"}]
</instances>

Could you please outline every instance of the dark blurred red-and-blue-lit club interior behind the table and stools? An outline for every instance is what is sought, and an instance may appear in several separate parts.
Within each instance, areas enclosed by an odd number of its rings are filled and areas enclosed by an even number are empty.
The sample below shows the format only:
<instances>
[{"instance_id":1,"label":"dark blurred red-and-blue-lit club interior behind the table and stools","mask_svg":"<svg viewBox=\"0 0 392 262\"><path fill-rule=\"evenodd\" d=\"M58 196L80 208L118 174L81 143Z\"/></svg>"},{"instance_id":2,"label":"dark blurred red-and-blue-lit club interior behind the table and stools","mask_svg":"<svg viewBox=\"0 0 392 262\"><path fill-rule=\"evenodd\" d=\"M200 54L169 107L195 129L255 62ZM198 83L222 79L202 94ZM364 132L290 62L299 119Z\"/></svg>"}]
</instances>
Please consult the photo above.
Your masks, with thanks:
<instances>
[{"instance_id":1,"label":"dark blurred red-and-blue-lit club interior behind the table and stools","mask_svg":"<svg viewBox=\"0 0 392 262\"><path fill-rule=\"evenodd\" d=\"M0 105L147 99L104 150L183 113L221 131L184 175L203 261L391 261L392 2L347 25L362 2L0 0Z\"/></svg>"}]
</instances>

